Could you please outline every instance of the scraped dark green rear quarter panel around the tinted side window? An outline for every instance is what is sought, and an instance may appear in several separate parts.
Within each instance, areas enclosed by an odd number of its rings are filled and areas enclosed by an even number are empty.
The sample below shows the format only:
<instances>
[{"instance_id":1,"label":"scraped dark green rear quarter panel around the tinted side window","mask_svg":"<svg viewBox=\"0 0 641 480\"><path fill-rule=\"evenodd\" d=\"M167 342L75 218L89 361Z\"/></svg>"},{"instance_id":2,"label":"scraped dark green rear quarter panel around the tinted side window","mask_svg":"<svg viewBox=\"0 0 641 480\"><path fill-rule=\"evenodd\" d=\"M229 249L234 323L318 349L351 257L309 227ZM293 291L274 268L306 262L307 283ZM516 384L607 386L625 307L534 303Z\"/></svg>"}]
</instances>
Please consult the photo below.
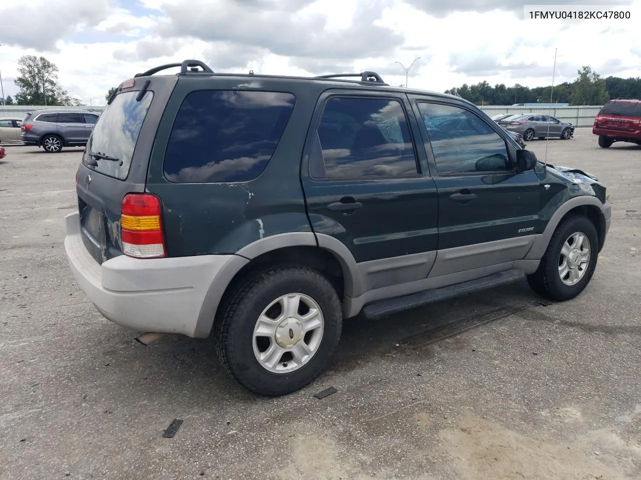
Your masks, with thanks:
<instances>
[{"instance_id":1,"label":"scraped dark green rear quarter panel around the tinted side window","mask_svg":"<svg viewBox=\"0 0 641 480\"><path fill-rule=\"evenodd\" d=\"M305 83L301 85L301 83ZM158 127L147 191L160 196L170 257L228 254L264 237L312 232L299 179L301 151L317 100L310 83L283 79L181 77ZM163 159L174 118L194 90L269 90L296 97L290 120L267 168L247 182L173 183ZM317 86L318 93L323 86ZM161 140L162 139L162 140ZM212 145L215 148L215 145Z\"/></svg>"}]
</instances>

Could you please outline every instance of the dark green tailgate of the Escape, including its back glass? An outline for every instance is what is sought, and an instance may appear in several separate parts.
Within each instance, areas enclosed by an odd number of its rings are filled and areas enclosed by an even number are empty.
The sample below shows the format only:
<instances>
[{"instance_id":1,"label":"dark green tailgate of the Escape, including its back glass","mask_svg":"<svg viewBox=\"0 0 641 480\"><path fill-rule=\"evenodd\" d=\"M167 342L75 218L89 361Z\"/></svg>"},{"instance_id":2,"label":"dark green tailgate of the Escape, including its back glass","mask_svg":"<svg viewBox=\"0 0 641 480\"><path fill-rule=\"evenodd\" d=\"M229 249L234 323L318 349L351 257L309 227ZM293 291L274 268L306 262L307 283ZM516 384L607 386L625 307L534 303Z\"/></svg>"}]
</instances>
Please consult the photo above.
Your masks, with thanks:
<instances>
[{"instance_id":1,"label":"dark green tailgate of the Escape, including its back glass","mask_svg":"<svg viewBox=\"0 0 641 480\"><path fill-rule=\"evenodd\" d=\"M177 80L176 76L130 80L134 85L113 97L85 147L76 173L80 231L99 264L122 255L122 199L145 190L156 129Z\"/></svg>"}]
</instances>

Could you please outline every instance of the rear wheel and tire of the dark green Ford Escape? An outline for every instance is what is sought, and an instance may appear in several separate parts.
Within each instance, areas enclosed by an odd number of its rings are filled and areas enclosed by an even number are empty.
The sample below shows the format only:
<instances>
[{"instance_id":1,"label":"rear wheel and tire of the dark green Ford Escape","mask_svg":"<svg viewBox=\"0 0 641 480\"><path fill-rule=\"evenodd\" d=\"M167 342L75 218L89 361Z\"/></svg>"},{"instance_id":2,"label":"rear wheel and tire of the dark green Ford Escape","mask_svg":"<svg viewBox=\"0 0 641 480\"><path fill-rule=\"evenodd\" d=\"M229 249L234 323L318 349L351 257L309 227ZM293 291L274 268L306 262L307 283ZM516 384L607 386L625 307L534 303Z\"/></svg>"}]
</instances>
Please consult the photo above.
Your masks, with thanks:
<instances>
[{"instance_id":1,"label":"rear wheel and tire of the dark green Ford Escape","mask_svg":"<svg viewBox=\"0 0 641 480\"><path fill-rule=\"evenodd\" d=\"M254 273L221 305L217 353L240 385L263 396L290 394L326 369L342 328L338 294L303 266Z\"/></svg>"}]
</instances>

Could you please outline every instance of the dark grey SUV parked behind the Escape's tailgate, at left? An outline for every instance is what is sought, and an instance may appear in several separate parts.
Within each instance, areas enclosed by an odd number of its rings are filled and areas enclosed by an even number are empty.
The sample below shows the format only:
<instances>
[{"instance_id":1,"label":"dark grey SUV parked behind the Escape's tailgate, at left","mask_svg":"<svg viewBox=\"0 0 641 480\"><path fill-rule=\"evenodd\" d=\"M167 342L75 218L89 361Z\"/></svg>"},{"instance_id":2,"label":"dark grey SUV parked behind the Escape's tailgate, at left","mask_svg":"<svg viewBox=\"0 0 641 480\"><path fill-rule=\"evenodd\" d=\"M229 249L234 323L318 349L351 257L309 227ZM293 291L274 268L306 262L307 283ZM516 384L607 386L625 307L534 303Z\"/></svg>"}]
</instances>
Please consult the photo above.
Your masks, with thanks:
<instances>
[{"instance_id":1,"label":"dark grey SUV parked behind the Escape's tailgate, at left","mask_svg":"<svg viewBox=\"0 0 641 480\"><path fill-rule=\"evenodd\" d=\"M24 145L37 145L45 152L60 152L63 147L84 147L99 114L86 110L36 110L22 120Z\"/></svg>"}]
</instances>

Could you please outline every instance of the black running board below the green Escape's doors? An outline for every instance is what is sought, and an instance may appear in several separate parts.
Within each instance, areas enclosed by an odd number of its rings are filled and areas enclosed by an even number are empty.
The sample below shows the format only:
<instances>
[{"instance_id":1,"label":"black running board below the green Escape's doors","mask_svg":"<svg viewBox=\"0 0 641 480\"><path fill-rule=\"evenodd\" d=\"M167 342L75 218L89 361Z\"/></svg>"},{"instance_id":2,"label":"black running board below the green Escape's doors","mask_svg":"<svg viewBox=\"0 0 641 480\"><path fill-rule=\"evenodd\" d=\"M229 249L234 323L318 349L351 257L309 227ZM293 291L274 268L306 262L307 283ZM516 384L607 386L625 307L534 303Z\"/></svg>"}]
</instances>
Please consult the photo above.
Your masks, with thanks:
<instances>
[{"instance_id":1,"label":"black running board below the green Escape's doors","mask_svg":"<svg viewBox=\"0 0 641 480\"><path fill-rule=\"evenodd\" d=\"M363 307L363 315L369 320L376 320L404 310L410 310L411 308L422 307L435 301L447 300L448 298L478 292L499 285L512 284L523 278L523 276L524 272L521 269L513 268L483 276L476 280L469 280L469 282L463 282L462 284L449 285L448 287L426 290L387 300L378 300L365 305Z\"/></svg>"}]
</instances>

